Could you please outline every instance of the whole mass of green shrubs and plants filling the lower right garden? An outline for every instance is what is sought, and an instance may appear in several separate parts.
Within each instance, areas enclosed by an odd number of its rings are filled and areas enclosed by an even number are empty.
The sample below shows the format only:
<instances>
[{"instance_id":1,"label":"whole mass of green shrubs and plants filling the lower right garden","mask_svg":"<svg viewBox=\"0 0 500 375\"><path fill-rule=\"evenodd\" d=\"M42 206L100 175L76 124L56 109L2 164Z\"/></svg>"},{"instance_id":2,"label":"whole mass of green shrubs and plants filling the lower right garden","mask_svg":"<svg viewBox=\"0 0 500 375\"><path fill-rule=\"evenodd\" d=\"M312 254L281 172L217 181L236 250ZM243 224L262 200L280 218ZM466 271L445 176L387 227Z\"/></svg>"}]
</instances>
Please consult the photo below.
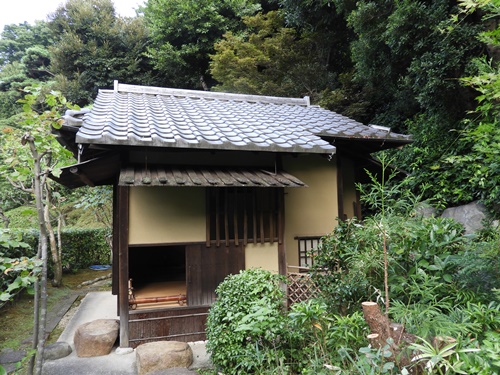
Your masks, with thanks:
<instances>
[{"instance_id":1,"label":"whole mass of green shrubs and plants filling the lower right garden","mask_svg":"<svg viewBox=\"0 0 500 375\"><path fill-rule=\"evenodd\" d=\"M311 253L316 299L284 310L262 296L278 288L262 270L220 285L207 321L219 371L408 374L421 362L429 374L499 373L499 228L465 236L451 219L423 217L402 184L374 182L362 194L377 213L340 222ZM392 355L394 343L369 345L360 312L369 300L416 335L410 365Z\"/></svg>"}]
</instances>

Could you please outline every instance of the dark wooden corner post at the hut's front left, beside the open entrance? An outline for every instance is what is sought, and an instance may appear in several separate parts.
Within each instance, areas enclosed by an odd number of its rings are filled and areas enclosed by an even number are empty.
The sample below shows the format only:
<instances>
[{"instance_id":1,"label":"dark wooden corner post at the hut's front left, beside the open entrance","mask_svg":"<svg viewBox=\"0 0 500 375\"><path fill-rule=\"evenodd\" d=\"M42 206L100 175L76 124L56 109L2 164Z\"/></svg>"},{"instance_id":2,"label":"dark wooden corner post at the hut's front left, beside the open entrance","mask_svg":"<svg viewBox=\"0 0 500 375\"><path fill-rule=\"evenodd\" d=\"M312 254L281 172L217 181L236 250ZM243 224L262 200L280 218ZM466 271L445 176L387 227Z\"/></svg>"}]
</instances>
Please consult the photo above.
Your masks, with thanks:
<instances>
[{"instance_id":1,"label":"dark wooden corner post at the hut's front left, beside the open entrance","mask_svg":"<svg viewBox=\"0 0 500 375\"><path fill-rule=\"evenodd\" d=\"M129 226L128 186L117 187L118 219L118 309L120 314L120 347L129 345L129 306L128 306L128 226Z\"/></svg>"}]
</instances>

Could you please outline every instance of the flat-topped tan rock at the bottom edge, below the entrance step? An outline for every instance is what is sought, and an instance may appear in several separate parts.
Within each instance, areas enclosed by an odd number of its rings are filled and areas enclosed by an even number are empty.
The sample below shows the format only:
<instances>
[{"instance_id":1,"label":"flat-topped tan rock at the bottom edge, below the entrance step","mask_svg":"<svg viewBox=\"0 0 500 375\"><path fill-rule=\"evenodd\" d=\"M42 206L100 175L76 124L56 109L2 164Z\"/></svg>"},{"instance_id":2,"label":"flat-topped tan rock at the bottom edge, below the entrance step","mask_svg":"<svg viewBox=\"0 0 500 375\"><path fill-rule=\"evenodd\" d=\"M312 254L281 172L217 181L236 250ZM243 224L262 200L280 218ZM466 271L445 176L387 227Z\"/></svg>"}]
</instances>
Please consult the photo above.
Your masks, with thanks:
<instances>
[{"instance_id":1,"label":"flat-topped tan rock at the bottom edge, below the entrance step","mask_svg":"<svg viewBox=\"0 0 500 375\"><path fill-rule=\"evenodd\" d=\"M156 341L136 348L139 375L171 368L188 368L193 363L193 352L185 342Z\"/></svg>"}]
</instances>

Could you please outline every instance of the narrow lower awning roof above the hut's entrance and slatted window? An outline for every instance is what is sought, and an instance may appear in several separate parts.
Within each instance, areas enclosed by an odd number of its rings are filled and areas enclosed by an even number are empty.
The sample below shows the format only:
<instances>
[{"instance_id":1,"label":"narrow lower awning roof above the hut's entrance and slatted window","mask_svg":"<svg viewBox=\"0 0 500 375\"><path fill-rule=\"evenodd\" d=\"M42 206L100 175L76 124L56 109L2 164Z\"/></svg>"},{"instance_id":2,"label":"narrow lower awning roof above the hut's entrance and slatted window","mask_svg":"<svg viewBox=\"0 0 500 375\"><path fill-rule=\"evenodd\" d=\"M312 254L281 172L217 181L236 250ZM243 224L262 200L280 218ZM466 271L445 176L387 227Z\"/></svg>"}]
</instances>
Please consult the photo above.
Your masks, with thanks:
<instances>
[{"instance_id":1,"label":"narrow lower awning roof above the hut's entrance and slatted window","mask_svg":"<svg viewBox=\"0 0 500 375\"><path fill-rule=\"evenodd\" d=\"M121 170L121 186L305 187L284 172L257 168L129 166Z\"/></svg>"}]
</instances>

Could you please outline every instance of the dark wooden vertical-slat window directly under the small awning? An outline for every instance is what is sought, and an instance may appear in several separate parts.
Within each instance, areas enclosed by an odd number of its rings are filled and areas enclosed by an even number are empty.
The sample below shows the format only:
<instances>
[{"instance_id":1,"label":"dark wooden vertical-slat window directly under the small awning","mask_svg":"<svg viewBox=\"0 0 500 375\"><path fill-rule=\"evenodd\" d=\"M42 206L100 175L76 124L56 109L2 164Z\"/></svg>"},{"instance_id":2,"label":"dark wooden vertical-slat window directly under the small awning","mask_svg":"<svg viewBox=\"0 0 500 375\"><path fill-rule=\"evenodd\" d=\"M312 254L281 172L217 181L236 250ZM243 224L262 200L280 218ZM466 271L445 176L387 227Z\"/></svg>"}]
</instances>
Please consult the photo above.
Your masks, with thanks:
<instances>
[{"instance_id":1,"label":"dark wooden vertical-slat window directly under the small awning","mask_svg":"<svg viewBox=\"0 0 500 375\"><path fill-rule=\"evenodd\" d=\"M281 243L282 189L207 189L207 246Z\"/></svg>"}]
</instances>

